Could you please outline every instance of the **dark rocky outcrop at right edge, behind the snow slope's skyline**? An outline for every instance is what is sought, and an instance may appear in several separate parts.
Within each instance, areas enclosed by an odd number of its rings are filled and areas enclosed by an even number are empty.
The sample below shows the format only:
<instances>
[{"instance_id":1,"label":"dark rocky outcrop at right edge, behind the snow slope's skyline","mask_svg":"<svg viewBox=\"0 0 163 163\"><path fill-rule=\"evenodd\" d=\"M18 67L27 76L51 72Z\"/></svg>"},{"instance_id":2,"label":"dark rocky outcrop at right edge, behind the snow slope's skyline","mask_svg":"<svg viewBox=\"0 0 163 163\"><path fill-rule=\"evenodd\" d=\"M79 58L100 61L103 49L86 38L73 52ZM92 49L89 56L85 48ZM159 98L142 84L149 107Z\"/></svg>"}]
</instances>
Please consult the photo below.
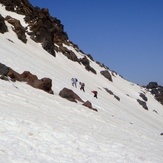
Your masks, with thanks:
<instances>
[{"instance_id":1,"label":"dark rocky outcrop at right edge, behind the snow slope's skyline","mask_svg":"<svg viewBox=\"0 0 163 163\"><path fill-rule=\"evenodd\" d=\"M150 82L146 88L154 95L155 99L163 105L163 86L157 82Z\"/></svg>"}]
</instances>

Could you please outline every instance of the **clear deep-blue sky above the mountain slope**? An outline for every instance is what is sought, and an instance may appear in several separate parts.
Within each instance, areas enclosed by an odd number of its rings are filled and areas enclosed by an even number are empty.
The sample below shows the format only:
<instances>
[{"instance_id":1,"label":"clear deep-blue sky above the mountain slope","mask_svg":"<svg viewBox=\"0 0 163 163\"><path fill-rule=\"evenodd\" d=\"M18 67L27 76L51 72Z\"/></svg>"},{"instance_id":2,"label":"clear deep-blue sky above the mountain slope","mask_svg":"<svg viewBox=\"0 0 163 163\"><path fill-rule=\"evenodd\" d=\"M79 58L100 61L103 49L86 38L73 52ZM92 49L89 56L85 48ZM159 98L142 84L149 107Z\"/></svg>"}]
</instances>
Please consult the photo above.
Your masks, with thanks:
<instances>
[{"instance_id":1,"label":"clear deep-blue sky above the mountain slope","mask_svg":"<svg viewBox=\"0 0 163 163\"><path fill-rule=\"evenodd\" d=\"M163 86L163 0L29 0L69 39L125 79Z\"/></svg>"}]
</instances>

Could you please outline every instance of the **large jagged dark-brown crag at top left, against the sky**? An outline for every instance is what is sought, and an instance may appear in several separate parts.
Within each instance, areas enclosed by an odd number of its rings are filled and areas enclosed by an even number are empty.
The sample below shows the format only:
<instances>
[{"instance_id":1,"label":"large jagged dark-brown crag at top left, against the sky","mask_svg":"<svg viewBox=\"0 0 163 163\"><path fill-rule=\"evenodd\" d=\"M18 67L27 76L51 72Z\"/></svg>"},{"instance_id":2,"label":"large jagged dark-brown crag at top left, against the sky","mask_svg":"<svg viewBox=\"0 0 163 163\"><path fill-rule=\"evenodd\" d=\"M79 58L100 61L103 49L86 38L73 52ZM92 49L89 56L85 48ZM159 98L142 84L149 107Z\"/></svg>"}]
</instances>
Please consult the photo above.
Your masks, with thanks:
<instances>
[{"instance_id":1,"label":"large jagged dark-brown crag at top left, against the sky","mask_svg":"<svg viewBox=\"0 0 163 163\"><path fill-rule=\"evenodd\" d=\"M53 56L55 56L54 43L59 45L68 42L68 36L63 31L64 26L60 20L50 16L48 9L33 7L28 0L0 0L0 3L8 11L25 15L24 19L29 24L30 32L28 34L30 37L34 41L41 43L42 47ZM20 33L23 34L23 31L19 31ZM18 36L20 38L20 35ZM23 42L25 42L25 39L23 39Z\"/></svg>"}]
</instances>

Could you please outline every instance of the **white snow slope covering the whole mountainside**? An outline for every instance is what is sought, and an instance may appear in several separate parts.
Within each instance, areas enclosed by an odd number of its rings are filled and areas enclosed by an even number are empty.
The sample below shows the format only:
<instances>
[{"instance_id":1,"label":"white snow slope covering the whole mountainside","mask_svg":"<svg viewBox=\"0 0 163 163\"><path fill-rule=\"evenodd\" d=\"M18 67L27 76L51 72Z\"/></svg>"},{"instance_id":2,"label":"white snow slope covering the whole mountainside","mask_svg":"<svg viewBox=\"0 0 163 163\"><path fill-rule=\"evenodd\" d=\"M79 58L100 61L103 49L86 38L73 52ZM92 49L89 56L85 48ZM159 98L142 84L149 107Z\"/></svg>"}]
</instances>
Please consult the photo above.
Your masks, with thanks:
<instances>
[{"instance_id":1,"label":"white snow slope covering the whole mountainside","mask_svg":"<svg viewBox=\"0 0 163 163\"><path fill-rule=\"evenodd\" d=\"M14 15L27 25L23 16L1 5L0 14ZM51 78L54 95L24 82L0 80L0 163L163 162L163 106L149 92L116 74L110 82L94 61L90 65L96 75L62 53L51 56L29 37L24 44L6 24L9 32L0 34L0 62L18 73ZM72 77L85 83L85 92L72 86ZM61 98L64 87L89 100L98 112ZM140 93L148 98L148 110L137 102Z\"/></svg>"}]
</instances>

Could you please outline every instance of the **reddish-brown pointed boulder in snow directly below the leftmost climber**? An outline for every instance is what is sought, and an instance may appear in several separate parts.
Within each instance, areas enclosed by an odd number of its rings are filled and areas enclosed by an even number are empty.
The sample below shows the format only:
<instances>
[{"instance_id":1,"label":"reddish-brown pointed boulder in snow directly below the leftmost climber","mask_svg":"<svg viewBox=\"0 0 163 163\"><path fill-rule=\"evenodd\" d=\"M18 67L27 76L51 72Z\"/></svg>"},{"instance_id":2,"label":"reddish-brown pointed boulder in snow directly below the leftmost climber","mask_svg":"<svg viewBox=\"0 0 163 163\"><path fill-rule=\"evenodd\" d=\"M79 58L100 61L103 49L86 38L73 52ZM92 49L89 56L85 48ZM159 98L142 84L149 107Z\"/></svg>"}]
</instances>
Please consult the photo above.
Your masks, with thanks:
<instances>
[{"instance_id":1,"label":"reddish-brown pointed boulder in snow directly below the leftmost climber","mask_svg":"<svg viewBox=\"0 0 163 163\"><path fill-rule=\"evenodd\" d=\"M74 93L71 89L68 88L63 88L59 92L59 95L62 98L66 98L67 100L72 102L77 102L77 101L83 102L83 100L76 93Z\"/></svg>"}]
</instances>

